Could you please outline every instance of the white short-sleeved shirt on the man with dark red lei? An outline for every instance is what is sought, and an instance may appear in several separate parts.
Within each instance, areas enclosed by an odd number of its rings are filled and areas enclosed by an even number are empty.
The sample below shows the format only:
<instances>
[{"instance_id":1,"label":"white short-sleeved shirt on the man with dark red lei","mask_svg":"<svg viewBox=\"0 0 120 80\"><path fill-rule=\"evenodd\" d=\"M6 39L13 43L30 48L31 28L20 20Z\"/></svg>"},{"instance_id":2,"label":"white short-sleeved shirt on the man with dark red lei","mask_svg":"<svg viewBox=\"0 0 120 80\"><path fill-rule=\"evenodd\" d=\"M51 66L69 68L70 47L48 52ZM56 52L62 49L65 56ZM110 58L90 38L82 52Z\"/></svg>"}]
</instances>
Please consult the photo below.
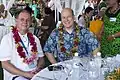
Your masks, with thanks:
<instances>
[{"instance_id":1,"label":"white short-sleeved shirt on the man with dark red lei","mask_svg":"<svg viewBox=\"0 0 120 80\"><path fill-rule=\"evenodd\" d=\"M23 36L27 38L27 35L20 35L22 41L24 41ZM43 51L42 51L39 39L35 36L34 38L35 38L35 42L37 43L38 57L43 57L44 55L43 55ZM28 39L24 41L24 44L25 46L28 45ZM30 53L31 52L30 43L27 49L28 49L28 52ZM20 56L18 55L16 46L15 46L15 41L14 41L12 32L10 32L9 34L3 37L1 41L1 45L0 45L0 51L2 53L0 54L0 61L10 60L11 63L20 70L32 71L37 67L36 65L34 68L29 68L28 64L24 63L23 59L20 58ZM35 61L35 63L36 62L37 60ZM13 74L10 74L6 70L4 70L4 80L10 80L13 76L14 76Z\"/></svg>"}]
</instances>

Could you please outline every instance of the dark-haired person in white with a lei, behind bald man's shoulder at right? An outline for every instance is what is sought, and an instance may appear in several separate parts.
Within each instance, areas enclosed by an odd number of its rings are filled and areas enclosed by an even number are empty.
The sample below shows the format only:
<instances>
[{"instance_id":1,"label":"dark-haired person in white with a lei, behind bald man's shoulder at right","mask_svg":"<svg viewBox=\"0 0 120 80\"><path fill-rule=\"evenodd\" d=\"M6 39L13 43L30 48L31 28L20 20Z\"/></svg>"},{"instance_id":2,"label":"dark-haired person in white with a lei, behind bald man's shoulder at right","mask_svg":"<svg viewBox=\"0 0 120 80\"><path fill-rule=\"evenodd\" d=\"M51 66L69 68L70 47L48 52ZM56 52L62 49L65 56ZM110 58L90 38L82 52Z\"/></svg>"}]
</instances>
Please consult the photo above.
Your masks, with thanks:
<instances>
[{"instance_id":1,"label":"dark-haired person in white with a lei, behind bald man's shoulder at right","mask_svg":"<svg viewBox=\"0 0 120 80\"><path fill-rule=\"evenodd\" d=\"M82 14L81 17L79 18L78 25L80 27L89 28L89 22L90 22L92 15L93 15L93 8L87 7L85 9L85 13Z\"/></svg>"}]
</instances>

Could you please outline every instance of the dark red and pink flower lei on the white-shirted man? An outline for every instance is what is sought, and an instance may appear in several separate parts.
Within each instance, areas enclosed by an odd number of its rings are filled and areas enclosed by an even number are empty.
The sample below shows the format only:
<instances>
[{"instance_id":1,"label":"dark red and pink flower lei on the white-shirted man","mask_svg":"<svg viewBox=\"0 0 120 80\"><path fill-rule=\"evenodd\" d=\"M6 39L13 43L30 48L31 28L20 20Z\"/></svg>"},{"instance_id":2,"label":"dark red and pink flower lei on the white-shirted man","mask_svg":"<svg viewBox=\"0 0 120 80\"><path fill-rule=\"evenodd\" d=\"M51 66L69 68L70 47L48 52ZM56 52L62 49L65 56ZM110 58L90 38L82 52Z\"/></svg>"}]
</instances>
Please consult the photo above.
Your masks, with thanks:
<instances>
[{"instance_id":1,"label":"dark red and pink flower lei on the white-shirted man","mask_svg":"<svg viewBox=\"0 0 120 80\"><path fill-rule=\"evenodd\" d=\"M17 52L19 56L23 58L23 62L30 64L32 61L34 61L37 58L36 55L38 53L35 38L33 37L33 34L29 32L27 33L30 45L32 46L31 48L32 54L31 54L31 57L28 58L26 56L23 46L21 45L21 38L18 34L18 30L16 28L13 28L12 33L13 33L13 38L15 40L15 44L16 44L16 48L17 48Z\"/></svg>"}]
</instances>

